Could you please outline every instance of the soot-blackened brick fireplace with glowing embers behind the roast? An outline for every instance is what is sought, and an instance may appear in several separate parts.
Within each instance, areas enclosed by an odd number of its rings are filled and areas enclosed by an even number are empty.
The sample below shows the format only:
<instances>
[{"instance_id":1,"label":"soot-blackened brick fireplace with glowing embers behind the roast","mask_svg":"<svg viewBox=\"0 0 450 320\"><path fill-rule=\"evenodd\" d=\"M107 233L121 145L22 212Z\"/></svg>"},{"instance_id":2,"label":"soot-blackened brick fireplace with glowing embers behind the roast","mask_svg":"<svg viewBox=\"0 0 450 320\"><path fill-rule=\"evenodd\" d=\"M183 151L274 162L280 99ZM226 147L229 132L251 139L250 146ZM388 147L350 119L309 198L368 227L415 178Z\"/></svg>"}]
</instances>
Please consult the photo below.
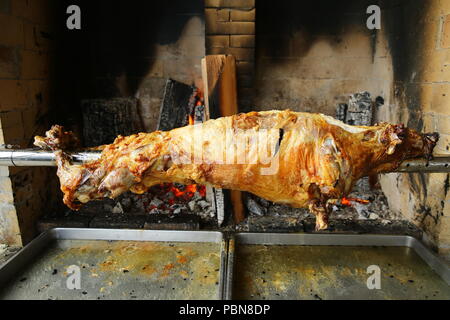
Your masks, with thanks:
<instances>
[{"instance_id":1,"label":"soot-blackened brick fireplace with glowing embers behind the roast","mask_svg":"<svg viewBox=\"0 0 450 320\"><path fill-rule=\"evenodd\" d=\"M0 32L0 107L2 138L13 148L31 147L56 123L95 146L226 115L208 90L202 59L228 55L238 112L289 108L355 125L404 123L439 132L435 156L449 155L445 2L376 1L379 30L366 25L374 3L360 0L11 3L0 8L8 17ZM82 10L81 30L60 27L70 4ZM177 86L188 92L184 102L170 99ZM53 168L2 167L1 174L0 242L10 245L58 226L314 232L308 210L249 193L160 185L73 212L61 202ZM362 180L335 206L326 232L409 234L449 258L448 189L448 173Z\"/></svg>"}]
</instances>

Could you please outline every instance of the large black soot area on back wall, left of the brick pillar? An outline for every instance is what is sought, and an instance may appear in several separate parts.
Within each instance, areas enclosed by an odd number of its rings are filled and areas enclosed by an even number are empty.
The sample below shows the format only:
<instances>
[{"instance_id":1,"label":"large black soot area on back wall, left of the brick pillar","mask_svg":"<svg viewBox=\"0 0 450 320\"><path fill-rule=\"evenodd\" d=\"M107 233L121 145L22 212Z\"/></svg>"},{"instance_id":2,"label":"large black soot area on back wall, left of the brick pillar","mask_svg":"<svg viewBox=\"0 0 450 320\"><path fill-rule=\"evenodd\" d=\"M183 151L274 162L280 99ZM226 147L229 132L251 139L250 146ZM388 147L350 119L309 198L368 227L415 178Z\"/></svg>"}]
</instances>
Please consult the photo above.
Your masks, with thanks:
<instances>
[{"instance_id":1,"label":"large black soot area on back wall, left of the brick pillar","mask_svg":"<svg viewBox=\"0 0 450 320\"><path fill-rule=\"evenodd\" d=\"M81 30L65 28L66 9L81 8ZM156 48L183 36L203 1L58 1L56 53L59 109L55 120L80 122L80 101L134 96L155 62Z\"/></svg>"}]
</instances>

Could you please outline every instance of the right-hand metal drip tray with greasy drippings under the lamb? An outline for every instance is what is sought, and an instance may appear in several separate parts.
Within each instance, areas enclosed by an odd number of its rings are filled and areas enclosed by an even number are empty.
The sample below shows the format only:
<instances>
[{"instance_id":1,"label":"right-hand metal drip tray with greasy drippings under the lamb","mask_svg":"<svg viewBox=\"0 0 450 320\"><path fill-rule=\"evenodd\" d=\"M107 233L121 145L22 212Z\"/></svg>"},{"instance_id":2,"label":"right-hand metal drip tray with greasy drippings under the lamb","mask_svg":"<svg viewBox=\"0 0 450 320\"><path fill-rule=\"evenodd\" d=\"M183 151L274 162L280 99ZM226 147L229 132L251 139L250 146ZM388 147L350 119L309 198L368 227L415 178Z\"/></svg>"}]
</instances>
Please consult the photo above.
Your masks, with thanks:
<instances>
[{"instance_id":1,"label":"right-hand metal drip tray with greasy drippings under the lamb","mask_svg":"<svg viewBox=\"0 0 450 320\"><path fill-rule=\"evenodd\" d=\"M448 265L407 236L241 233L228 265L233 299L450 299Z\"/></svg>"}]
</instances>

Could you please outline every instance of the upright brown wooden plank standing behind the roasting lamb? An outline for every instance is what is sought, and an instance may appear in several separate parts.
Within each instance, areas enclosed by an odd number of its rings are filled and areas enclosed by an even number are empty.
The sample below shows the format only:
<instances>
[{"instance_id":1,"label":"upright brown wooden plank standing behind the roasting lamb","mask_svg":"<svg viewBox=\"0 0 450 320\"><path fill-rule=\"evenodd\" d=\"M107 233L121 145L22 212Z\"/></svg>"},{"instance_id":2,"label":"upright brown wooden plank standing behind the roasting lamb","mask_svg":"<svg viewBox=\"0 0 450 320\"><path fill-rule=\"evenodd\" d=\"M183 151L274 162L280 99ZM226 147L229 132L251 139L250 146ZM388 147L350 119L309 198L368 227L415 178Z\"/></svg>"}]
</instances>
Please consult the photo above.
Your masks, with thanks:
<instances>
[{"instance_id":1,"label":"upright brown wooden plank standing behind the roasting lamb","mask_svg":"<svg viewBox=\"0 0 450 320\"><path fill-rule=\"evenodd\" d=\"M238 113L236 59L231 55L211 55L202 59L205 104L209 117L231 116ZM230 190L235 223L245 219L242 193Z\"/></svg>"}]
</instances>

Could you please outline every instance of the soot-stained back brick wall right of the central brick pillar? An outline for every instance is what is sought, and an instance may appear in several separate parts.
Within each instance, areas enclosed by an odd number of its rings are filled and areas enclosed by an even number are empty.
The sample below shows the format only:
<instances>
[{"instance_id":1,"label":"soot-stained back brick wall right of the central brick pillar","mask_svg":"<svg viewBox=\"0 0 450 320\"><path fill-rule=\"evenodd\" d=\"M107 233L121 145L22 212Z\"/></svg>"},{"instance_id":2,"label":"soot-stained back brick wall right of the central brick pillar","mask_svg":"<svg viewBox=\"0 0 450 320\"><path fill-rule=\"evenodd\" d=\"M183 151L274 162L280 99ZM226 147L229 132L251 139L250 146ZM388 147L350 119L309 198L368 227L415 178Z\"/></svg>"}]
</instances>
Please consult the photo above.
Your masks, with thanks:
<instances>
[{"instance_id":1,"label":"soot-stained back brick wall right of the central brick pillar","mask_svg":"<svg viewBox=\"0 0 450 320\"><path fill-rule=\"evenodd\" d=\"M355 92L389 95L386 42L365 25L371 2L259 0L255 108L334 116Z\"/></svg>"}]
</instances>

